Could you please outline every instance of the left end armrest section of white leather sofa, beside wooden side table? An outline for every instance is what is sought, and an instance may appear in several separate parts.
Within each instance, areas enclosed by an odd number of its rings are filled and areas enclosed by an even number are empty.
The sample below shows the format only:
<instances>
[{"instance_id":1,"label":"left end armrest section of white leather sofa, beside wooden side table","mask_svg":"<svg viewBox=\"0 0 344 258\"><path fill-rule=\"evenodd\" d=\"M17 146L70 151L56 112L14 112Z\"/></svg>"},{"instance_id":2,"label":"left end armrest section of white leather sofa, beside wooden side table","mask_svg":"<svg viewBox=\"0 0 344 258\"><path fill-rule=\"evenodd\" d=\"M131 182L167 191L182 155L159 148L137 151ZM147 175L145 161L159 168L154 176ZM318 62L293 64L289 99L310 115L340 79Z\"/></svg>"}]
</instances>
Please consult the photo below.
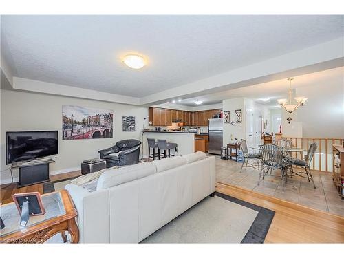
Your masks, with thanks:
<instances>
[{"instance_id":1,"label":"left end armrest section of white leather sofa, beside wooden side table","mask_svg":"<svg viewBox=\"0 0 344 258\"><path fill-rule=\"evenodd\" d=\"M76 184L67 184L65 189L78 212L80 243L109 243L109 191L89 192Z\"/></svg>"}]
</instances>

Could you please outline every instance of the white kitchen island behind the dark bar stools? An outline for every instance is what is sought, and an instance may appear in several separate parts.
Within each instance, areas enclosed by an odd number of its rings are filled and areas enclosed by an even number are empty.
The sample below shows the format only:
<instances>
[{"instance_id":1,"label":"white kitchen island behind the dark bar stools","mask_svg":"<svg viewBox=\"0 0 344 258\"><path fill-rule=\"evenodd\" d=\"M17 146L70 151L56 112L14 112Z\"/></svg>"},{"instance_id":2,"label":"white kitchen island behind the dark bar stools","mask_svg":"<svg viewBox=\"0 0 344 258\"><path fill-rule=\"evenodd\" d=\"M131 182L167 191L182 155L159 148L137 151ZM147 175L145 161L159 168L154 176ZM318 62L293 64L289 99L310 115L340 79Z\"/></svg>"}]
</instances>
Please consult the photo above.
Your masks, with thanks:
<instances>
[{"instance_id":1,"label":"white kitchen island behind the dark bar stools","mask_svg":"<svg viewBox=\"0 0 344 258\"><path fill-rule=\"evenodd\" d=\"M177 155L185 155L195 152L195 133L189 131L144 131L143 132L143 155L148 157L148 144L147 138L156 140L167 140L178 144ZM171 150L171 154L175 154Z\"/></svg>"}]
</instances>

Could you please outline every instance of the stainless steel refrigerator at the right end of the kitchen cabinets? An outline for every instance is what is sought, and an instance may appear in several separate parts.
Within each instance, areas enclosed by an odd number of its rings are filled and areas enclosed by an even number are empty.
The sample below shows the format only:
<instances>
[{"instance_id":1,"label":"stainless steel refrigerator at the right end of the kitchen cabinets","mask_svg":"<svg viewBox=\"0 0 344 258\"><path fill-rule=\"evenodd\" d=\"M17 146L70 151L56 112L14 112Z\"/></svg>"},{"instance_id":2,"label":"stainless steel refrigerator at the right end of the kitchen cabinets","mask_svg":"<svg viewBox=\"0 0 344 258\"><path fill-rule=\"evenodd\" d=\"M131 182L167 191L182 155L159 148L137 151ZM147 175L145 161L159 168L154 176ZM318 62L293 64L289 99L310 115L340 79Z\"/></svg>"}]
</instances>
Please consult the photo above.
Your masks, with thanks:
<instances>
[{"instance_id":1,"label":"stainless steel refrigerator at the right end of the kitchen cabinets","mask_svg":"<svg viewBox=\"0 0 344 258\"><path fill-rule=\"evenodd\" d=\"M208 120L209 153L221 154L223 129L223 118L211 118Z\"/></svg>"}]
</instances>

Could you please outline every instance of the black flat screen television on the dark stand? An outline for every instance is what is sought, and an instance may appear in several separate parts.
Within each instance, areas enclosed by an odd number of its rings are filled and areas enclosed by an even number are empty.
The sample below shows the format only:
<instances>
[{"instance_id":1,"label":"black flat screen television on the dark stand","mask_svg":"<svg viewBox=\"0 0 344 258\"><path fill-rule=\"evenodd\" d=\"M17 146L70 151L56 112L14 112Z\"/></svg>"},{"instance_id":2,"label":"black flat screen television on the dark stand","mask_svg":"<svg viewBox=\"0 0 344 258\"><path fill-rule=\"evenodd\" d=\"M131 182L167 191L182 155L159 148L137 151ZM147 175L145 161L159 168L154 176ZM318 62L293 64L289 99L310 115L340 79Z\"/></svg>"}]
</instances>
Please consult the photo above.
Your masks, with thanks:
<instances>
[{"instance_id":1,"label":"black flat screen television on the dark stand","mask_svg":"<svg viewBox=\"0 0 344 258\"><path fill-rule=\"evenodd\" d=\"M58 153L58 131L6 132L6 164Z\"/></svg>"}]
</instances>

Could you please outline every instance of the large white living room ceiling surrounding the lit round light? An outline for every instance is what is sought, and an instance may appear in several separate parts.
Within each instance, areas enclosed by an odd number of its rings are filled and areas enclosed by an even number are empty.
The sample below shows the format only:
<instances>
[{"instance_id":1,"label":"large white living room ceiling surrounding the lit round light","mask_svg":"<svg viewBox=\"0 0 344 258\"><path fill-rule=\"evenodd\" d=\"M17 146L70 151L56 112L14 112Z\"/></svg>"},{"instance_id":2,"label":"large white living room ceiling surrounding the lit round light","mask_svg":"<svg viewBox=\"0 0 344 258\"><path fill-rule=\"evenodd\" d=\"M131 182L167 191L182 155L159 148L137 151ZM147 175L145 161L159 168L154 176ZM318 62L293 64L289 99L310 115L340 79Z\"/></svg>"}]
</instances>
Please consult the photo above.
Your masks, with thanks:
<instances>
[{"instance_id":1,"label":"large white living room ceiling surrounding the lit round light","mask_svg":"<svg viewBox=\"0 0 344 258\"><path fill-rule=\"evenodd\" d=\"M343 16L2 16L1 36L14 76L141 98L336 39Z\"/></svg>"}]
</instances>

